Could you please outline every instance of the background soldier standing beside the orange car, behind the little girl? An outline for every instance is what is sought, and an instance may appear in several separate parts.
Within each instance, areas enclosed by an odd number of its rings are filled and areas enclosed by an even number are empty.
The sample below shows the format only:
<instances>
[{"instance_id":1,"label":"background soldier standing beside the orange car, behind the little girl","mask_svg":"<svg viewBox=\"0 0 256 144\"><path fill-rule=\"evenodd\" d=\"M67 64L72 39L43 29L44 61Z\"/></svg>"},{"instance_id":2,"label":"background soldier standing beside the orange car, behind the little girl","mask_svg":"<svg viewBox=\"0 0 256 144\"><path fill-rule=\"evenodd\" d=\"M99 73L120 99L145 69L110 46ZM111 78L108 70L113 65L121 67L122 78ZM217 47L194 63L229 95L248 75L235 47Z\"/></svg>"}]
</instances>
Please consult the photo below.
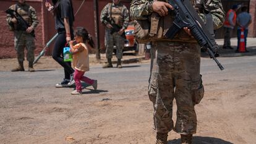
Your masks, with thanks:
<instances>
[{"instance_id":1,"label":"background soldier standing beside the orange car, behind the little girl","mask_svg":"<svg viewBox=\"0 0 256 144\"><path fill-rule=\"evenodd\" d=\"M103 17L112 19L114 23L121 27L119 32L111 33L111 23L107 22ZM124 49L124 38L121 36L124 30L129 25L129 12L126 6L121 4L120 0L113 0L113 3L107 4L101 11L100 20L105 25L105 38L106 38L106 58L108 62L103 68L113 67L111 59L113 57L113 48L116 46L117 68L122 68L122 49Z\"/></svg>"}]
</instances>

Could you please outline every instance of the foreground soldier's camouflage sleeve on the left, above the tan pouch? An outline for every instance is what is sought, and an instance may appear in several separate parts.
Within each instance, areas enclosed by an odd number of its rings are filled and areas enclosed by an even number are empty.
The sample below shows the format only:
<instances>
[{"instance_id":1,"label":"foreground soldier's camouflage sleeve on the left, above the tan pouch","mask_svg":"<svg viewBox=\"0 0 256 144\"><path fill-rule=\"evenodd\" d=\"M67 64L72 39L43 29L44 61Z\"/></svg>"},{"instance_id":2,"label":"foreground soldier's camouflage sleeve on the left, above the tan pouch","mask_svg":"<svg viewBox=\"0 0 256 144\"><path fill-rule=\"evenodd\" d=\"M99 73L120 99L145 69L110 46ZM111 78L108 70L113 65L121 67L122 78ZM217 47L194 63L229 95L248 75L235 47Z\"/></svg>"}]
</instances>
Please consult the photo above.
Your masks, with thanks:
<instances>
[{"instance_id":1,"label":"foreground soldier's camouflage sleeve on the left, above the tan pouch","mask_svg":"<svg viewBox=\"0 0 256 144\"><path fill-rule=\"evenodd\" d=\"M131 19L148 19L148 15L153 12L152 0L132 0L130 5Z\"/></svg>"}]
</instances>

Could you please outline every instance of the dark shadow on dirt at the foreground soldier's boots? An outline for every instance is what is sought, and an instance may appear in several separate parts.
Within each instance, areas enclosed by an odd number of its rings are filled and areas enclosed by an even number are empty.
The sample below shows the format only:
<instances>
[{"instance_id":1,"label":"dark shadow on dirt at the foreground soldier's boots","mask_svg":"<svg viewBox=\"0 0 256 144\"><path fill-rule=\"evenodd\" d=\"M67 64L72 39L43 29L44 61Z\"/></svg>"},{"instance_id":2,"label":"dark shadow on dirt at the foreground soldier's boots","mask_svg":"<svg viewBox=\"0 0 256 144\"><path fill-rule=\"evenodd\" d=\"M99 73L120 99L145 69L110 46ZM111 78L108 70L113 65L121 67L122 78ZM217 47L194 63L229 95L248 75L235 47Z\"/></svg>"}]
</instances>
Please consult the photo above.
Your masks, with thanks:
<instances>
[{"instance_id":1,"label":"dark shadow on dirt at the foreground soldier's boots","mask_svg":"<svg viewBox=\"0 0 256 144\"><path fill-rule=\"evenodd\" d=\"M169 140L168 144L180 144L181 139ZM234 144L214 137L193 137L193 143L195 144Z\"/></svg>"}]
</instances>

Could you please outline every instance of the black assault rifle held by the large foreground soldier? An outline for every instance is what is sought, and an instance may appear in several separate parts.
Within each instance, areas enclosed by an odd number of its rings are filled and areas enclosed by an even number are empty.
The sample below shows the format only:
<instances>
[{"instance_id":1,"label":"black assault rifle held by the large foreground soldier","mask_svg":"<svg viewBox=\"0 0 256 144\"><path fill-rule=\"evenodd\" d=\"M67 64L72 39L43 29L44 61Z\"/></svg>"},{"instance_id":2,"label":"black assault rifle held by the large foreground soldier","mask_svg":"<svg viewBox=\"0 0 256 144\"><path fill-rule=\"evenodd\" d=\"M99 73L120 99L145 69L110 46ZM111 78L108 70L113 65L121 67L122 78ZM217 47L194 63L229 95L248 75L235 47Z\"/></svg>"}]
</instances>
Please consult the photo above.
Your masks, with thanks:
<instances>
[{"instance_id":1,"label":"black assault rifle held by the large foreground soldier","mask_svg":"<svg viewBox=\"0 0 256 144\"><path fill-rule=\"evenodd\" d=\"M218 44L216 44L215 38L208 32L207 27L200 19L190 1L168 0L168 2L174 8L173 11L169 12L174 12L176 16L173 25L169 28L165 36L173 39L179 30L188 27L198 44L202 46L203 49L207 50L210 57L217 63L220 69L223 70L223 66L221 66L220 62L216 59L216 57L219 56L217 51L219 48Z\"/></svg>"}]
</instances>

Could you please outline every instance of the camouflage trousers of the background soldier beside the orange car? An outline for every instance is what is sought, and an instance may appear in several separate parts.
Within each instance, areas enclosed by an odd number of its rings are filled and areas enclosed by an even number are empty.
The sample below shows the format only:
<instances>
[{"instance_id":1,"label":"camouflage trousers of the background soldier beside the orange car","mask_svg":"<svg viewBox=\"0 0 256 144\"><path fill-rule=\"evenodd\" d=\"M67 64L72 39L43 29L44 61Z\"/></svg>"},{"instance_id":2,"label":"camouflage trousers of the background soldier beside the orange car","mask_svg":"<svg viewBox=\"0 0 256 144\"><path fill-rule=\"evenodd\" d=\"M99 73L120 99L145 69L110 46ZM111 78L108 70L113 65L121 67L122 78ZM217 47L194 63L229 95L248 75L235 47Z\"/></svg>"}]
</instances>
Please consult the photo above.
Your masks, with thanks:
<instances>
[{"instance_id":1,"label":"camouflage trousers of the background soldier beside the orange car","mask_svg":"<svg viewBox=\"0 0 256 144\"><path fill-rule=\"evenodd\" d=\"M122 49L124 49L124 38L118 35L118 33L111 34L109 30L106 30L106 58L111 59L113 57L114 46L116 46L116 57L122 59Z\"/></svg>"}]
</instances>

